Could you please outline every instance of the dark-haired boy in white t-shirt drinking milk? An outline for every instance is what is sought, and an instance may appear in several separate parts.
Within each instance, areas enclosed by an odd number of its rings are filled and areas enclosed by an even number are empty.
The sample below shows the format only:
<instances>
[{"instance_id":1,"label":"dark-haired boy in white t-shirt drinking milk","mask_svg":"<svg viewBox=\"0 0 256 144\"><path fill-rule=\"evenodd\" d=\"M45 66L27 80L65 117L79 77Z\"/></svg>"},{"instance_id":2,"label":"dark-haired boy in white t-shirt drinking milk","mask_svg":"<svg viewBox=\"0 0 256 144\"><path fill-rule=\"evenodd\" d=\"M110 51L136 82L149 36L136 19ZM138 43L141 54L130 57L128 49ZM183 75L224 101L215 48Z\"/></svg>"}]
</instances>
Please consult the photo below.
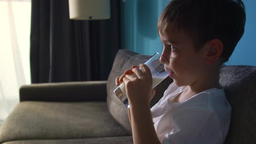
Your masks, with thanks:
<instances>
[{"instance_id":1,"label":"dark-haired boy in white t-shirt drinking milk","mask_svg":"<svg viewBox=\"0 0 256 144\"><path fill-rule=\"evenodd\" d=\"M231 107L219 85L221 65L243 36L241 0L172 0L158 20L161 62L174 82L150 108L155 94L148 67L125 71L135 144L223 144Z\"/></svg>"}]
</instances>

